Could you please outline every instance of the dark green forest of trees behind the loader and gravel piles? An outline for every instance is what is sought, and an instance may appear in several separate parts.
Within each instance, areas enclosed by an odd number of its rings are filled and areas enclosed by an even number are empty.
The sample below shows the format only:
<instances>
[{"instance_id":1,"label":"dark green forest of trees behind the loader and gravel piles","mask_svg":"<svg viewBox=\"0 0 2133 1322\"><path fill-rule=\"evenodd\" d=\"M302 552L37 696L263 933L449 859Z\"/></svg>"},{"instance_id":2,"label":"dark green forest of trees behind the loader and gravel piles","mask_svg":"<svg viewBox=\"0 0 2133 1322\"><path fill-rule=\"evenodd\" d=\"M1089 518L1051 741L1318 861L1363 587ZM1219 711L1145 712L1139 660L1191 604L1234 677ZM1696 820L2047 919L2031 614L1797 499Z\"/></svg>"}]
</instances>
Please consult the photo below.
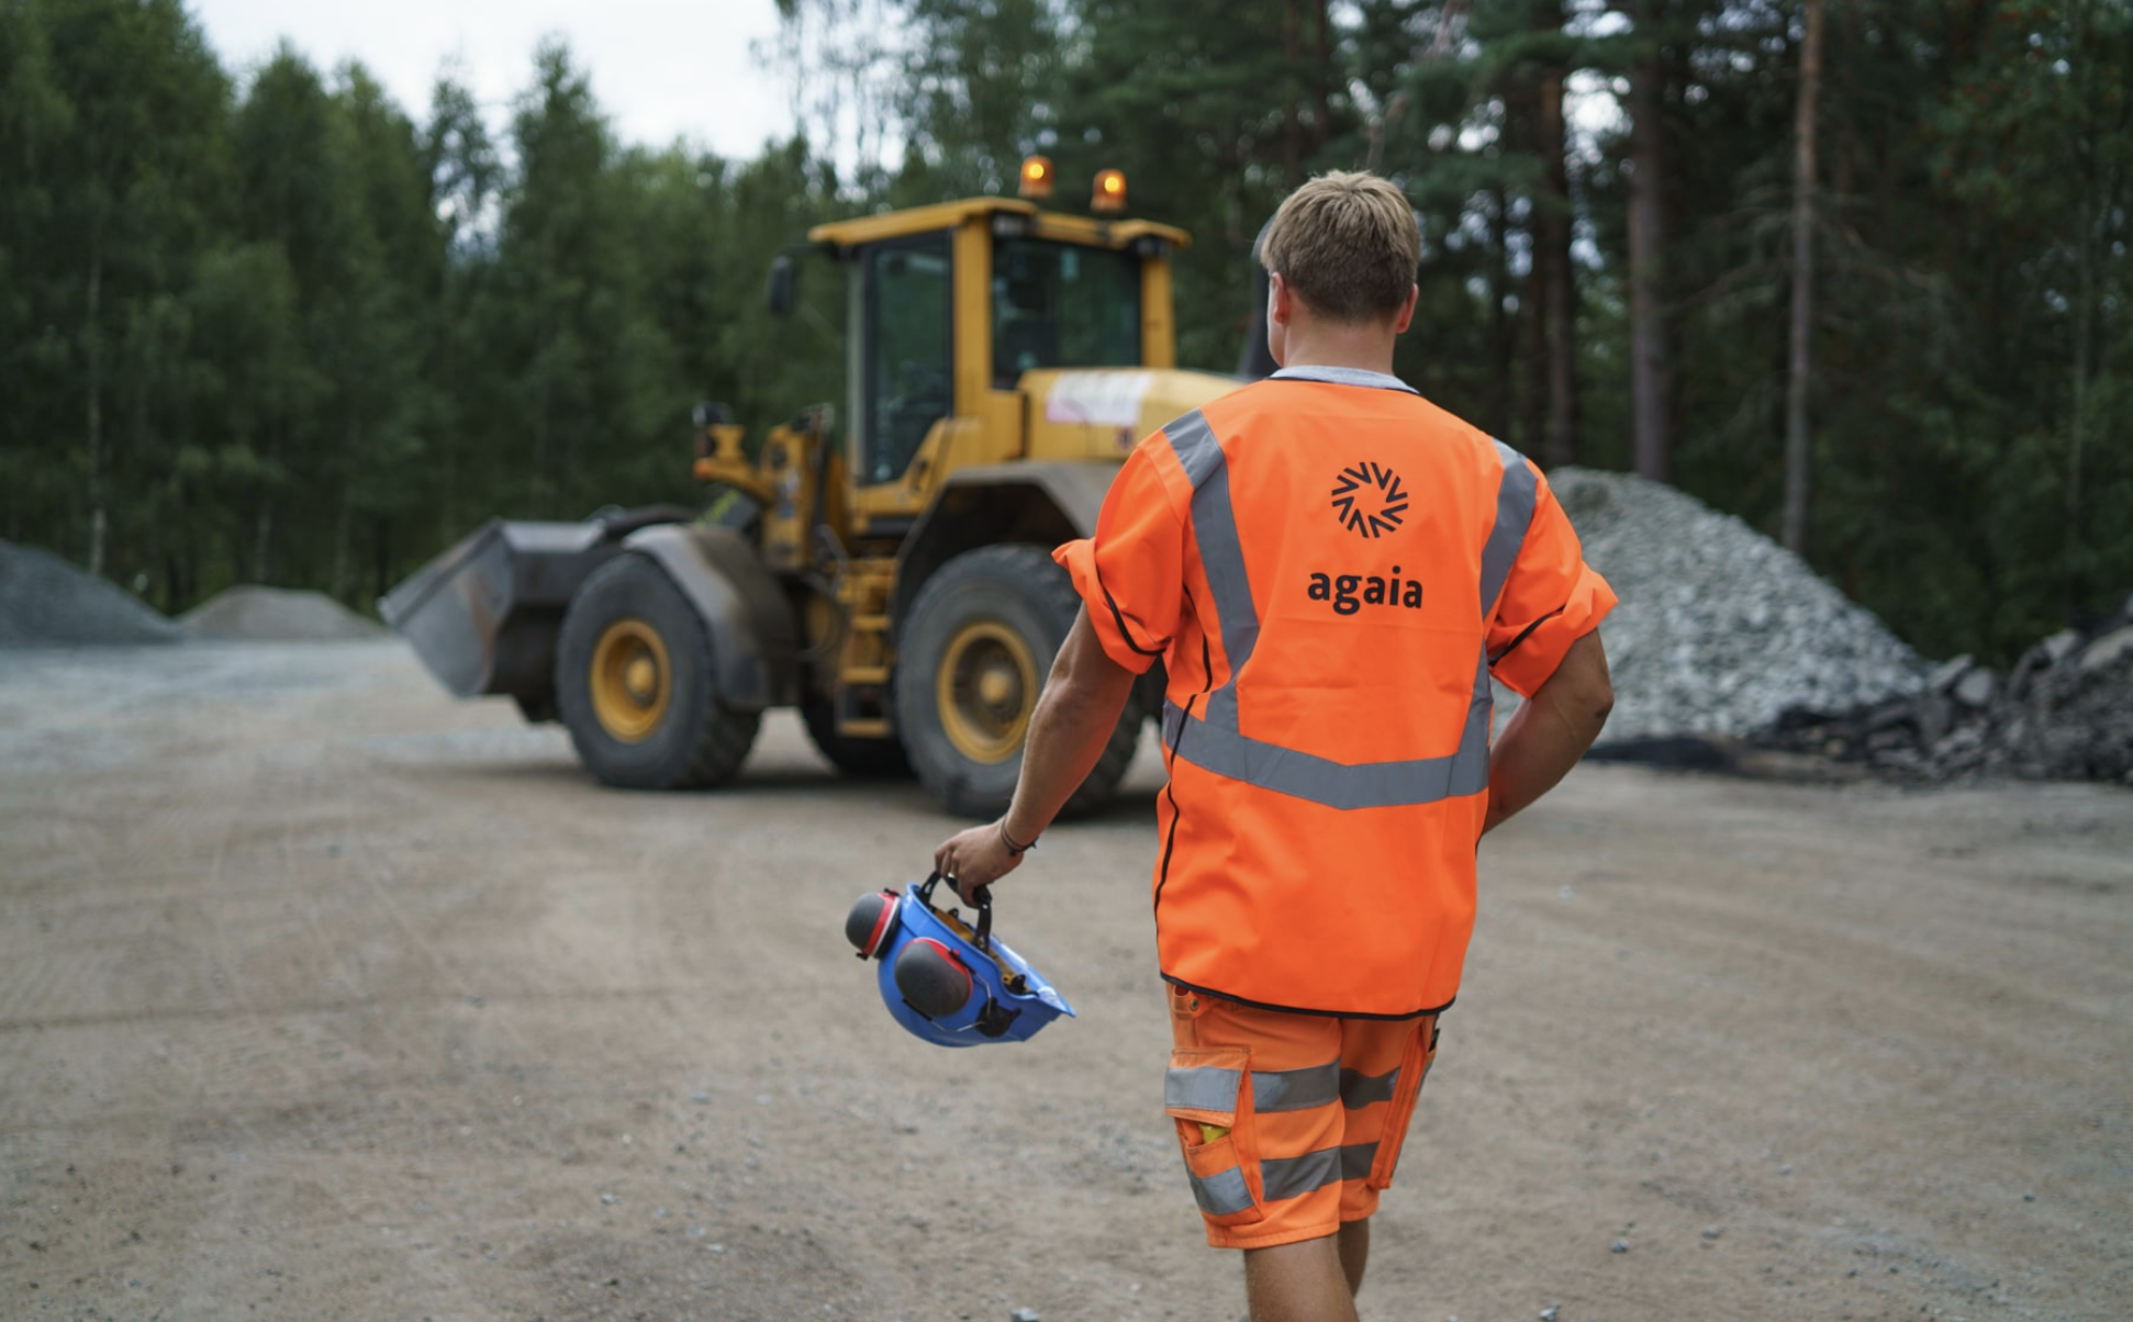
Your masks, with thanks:
<instances>
[{"instance_id":1,"label":"dark green forest of trees behind the loader and gravel piles","mask_svg":"<svg viewBox=\"0 0 2133 1322\"><path fill-rule=\"evenodd\" d=\"M0 535L369 608L484 518L689 501L697 399L843 399L783 245L1045 151L1194 235L1188 367L1280 196L1372 166L1425 224L1399 371L1542 463L1785 533L1932 657L2133 589L2127 0L781 9L802 130L727 160L616 141L559 43L493 132L444 75L228 70L179 0L0 0Z\"/></svg>"}]
</instances>

